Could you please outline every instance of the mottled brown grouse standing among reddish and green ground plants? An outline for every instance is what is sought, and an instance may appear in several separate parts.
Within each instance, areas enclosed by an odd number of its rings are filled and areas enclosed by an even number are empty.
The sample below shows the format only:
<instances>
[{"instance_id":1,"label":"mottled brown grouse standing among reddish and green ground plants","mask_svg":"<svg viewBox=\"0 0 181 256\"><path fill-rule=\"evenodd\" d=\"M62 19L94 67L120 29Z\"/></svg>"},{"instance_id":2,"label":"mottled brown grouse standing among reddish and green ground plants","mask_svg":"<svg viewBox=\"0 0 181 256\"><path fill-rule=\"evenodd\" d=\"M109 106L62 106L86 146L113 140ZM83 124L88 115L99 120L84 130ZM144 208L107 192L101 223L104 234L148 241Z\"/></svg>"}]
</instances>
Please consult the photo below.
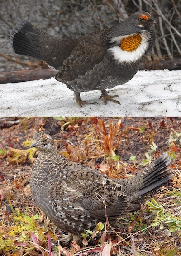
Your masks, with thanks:
<instances>
[{"instance_id":1,"label":"mottled brown grouse standing among reddish and green ground plants","mask_svg":"<svg viewBox=\"0 0 181 256\"><path fill-rule=\"evenodd\" d=\"M30 177L33 199L57 227L69 232L66 242L72 237L78 241L86 229L105 222L105 204L108 219L114 222L140 209L143 197L171 178L167 153L137 176L118 180L67 161L43 131L34 135L31 147L40 151Z\"/></svg>"}]
</instances>

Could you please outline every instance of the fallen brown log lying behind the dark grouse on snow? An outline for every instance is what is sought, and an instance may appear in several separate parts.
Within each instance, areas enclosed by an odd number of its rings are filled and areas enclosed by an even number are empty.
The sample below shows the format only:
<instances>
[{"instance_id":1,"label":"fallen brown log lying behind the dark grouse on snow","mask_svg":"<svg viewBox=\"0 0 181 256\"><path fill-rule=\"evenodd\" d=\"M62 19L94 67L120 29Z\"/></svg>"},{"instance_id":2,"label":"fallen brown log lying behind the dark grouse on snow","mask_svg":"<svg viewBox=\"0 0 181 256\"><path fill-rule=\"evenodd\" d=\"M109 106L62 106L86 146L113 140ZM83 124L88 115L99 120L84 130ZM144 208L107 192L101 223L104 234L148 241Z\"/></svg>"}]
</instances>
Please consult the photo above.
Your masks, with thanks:
<instances>
[{"instance_id":1,"label":"fallen brown log lying behind the dark grouse on snow","mask_svg":"<svg viewBox=\"0 0 181 256\"><path fill-rule=\"evenodd\" d=\"M180 70L181 58L172 60L154 60L144 62L140 70ZM0 72L0 84L18 83L33 81L39 79L48 79L55 76L57 72L51 69L31 69L31 70L18 70L10 72Z\"/></svg>"}]
</instances>

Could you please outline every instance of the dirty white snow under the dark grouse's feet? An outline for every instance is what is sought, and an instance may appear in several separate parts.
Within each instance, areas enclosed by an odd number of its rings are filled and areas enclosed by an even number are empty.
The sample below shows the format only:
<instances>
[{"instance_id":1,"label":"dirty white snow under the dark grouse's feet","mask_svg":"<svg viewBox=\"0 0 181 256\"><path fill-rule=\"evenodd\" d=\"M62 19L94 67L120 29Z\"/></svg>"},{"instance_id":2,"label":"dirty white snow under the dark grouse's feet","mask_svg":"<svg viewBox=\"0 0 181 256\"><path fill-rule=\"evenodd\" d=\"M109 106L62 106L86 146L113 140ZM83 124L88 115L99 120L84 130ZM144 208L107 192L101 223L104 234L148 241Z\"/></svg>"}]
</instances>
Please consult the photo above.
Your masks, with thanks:
<instances>
[{"instance_id":1,"label":"dirty white snow under the dark grouse's feet","mask_svg":"<svg viewBox=\"0 0 181 256\"><path fill-rule=\"evenodd\" d=\"M119 95L104 104L100 91L81 93L76 105L73 92L50 78L47 80L0 84L0 116L181 116L181 70L138 71L124 85L107 90Z\"/></svg>"}]
</instances>

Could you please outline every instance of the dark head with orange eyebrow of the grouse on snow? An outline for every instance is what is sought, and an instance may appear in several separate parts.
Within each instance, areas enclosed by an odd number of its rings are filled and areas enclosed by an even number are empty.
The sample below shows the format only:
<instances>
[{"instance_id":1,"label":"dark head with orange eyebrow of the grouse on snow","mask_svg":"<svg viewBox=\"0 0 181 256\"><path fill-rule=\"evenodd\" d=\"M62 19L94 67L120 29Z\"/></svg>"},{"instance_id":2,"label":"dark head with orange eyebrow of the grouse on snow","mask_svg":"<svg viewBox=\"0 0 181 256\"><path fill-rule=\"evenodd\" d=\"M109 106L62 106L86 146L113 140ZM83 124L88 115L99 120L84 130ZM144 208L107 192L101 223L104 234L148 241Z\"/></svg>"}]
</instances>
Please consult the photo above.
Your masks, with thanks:
<instances>
[{"instance_id":1,"label":"dark head with orange eyebrow of the grouse on snow","mask_svg":"<svg viewBox=\"0 0 181 256\"><path fill-rule=\"evenodd\" d=\"M128 22L131 27L135 28L139 32L150 30L152 25L157 25L157 21L153 20L152 16L146 11L135 12L124 22Z\"/></svg>"}]
</instances>

